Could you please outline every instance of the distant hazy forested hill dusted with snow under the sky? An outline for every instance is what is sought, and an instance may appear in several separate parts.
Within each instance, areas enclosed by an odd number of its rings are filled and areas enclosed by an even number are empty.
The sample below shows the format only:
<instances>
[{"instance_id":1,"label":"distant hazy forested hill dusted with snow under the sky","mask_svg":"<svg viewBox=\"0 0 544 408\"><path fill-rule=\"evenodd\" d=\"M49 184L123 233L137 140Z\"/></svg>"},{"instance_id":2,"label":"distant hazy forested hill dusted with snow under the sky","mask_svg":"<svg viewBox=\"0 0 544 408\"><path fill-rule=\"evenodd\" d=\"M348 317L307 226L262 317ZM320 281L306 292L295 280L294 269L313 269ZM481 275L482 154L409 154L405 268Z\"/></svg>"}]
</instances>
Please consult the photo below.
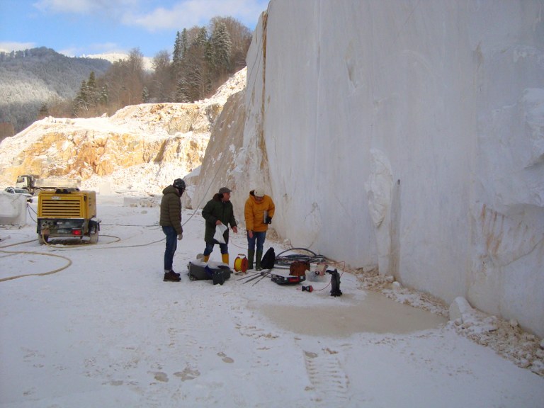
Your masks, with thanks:
<instances>
[{"instance_id":1,"label":"distant hazy forested hill dusted with snow under the sky","mask_svg":"<svg viewBox=\"0 0 544 408\"><path fill-rule=\"evenodd\" d=\"M109 67L106 60L67 57L46 47L0 52L0 125L23 130L44 103L74 98L91 72L102 75Z\"/></svg>"}]
</instances>

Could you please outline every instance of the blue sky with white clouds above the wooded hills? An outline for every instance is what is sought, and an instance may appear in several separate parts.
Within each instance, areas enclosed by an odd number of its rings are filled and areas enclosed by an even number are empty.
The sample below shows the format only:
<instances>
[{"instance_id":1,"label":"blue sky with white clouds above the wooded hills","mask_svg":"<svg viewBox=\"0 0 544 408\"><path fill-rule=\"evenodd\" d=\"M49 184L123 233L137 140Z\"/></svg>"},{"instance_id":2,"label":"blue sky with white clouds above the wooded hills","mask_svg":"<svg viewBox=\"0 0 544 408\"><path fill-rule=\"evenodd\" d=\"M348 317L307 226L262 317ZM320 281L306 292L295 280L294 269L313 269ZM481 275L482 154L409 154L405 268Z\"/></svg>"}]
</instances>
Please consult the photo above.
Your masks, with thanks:
<instances>
[{"instance_id":1,"label":"blue sky with white clouds above the wooded hills","mask_svg":"<svg viewBox=\"0 0 544 408\"><path fill-rule=\"evenodd\" d=\"M254 30L268 0L0 0L0 50L172 52L176 32L230 16Z\"/></svg>"}]
</instances>

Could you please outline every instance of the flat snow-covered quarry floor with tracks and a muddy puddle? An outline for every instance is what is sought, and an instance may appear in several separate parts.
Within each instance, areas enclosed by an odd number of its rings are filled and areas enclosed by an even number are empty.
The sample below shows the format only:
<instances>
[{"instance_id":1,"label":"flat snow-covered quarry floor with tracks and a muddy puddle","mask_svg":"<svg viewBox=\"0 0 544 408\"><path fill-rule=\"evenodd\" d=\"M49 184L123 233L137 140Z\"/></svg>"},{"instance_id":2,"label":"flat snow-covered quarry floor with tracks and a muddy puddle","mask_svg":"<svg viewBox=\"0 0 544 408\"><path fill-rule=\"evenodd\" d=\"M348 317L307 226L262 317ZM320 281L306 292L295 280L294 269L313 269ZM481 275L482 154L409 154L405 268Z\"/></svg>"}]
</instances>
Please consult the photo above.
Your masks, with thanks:
<instances>
[{"instance_id":1,"label":"flat snow-covered quarry floor with tracks and a muddy puddle","mask_svg":"<svg viewBox=\"0 0 544 408\"><path fill-rule=\"evenodd\" d=\"M96 245L40 246L35 203L27 225L0 229L2 408L542 407L543 376L460 334L475 312L463 300L447 322L430 297L332 261L340 297L327 278L307 280L312 293L268 278L190 281L199 210L183 210L182 280L166 283L159 197L97 199ZM229 250L232 267L242 234ZM421 304L401 303L411 301Z\"/></svg>"}]
</instances>

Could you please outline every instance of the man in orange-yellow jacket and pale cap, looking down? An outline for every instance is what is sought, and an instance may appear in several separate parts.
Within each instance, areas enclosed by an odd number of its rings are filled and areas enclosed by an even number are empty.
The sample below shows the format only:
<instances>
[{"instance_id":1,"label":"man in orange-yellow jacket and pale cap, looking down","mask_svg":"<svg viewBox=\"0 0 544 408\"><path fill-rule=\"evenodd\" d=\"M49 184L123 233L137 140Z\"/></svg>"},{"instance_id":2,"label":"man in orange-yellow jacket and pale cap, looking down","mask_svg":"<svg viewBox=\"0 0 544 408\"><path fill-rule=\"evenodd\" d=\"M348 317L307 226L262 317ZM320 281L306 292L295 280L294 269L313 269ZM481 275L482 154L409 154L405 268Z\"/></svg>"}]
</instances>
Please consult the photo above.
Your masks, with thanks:
<instances>
[{"instance_id":1,"label":"man in orange-yellow jacket and pale cap, looking down","mask_svg":"<svg viewBox=\"0 0 544 408\"><path fill-rule=\"evenodd\" d=\"M270 196L266 196L263 188L255 188L249 192L244 207L247 230L247 260L248 269L261 271L261 258L263 256L263 245L266 239L268 224L272 223L274 216L274 202ZM256 244L256 252L255 252Z\"/></svg>"}]
</instances>

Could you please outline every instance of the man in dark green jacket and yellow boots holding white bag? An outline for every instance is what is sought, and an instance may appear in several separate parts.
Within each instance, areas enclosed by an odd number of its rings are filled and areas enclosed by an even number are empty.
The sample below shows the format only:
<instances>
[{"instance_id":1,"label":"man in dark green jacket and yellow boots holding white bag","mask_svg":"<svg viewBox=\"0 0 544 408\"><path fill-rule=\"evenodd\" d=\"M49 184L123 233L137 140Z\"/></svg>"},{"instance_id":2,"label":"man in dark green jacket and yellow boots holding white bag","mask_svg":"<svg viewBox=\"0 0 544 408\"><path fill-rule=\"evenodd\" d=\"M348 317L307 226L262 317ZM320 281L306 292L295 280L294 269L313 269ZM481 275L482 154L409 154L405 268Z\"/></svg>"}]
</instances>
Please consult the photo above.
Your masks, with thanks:
<instances>
[{"instance_id":1,"label":"man in dark green jacket and yellow boots holding white bag","mask_svg":"<svg viewBox=\"0 0 544 408\"><path fill-rule=\"evenodd\" d=\"M223 263L229 264L229 225L235 234L238 233L236 219L234 218L234 208L230 202L230 189L221 187L219 192L206 203L202 210L202 216L206 220L206 230L204 241L206 248L204 249L204 261L208 262L210 254L213 251L213 246L219 244L221 249L221 258ZM217 241L214 238L217 225L225 225L227 229L223 233L224 243Z\"/></svg>"}]
</instances>

